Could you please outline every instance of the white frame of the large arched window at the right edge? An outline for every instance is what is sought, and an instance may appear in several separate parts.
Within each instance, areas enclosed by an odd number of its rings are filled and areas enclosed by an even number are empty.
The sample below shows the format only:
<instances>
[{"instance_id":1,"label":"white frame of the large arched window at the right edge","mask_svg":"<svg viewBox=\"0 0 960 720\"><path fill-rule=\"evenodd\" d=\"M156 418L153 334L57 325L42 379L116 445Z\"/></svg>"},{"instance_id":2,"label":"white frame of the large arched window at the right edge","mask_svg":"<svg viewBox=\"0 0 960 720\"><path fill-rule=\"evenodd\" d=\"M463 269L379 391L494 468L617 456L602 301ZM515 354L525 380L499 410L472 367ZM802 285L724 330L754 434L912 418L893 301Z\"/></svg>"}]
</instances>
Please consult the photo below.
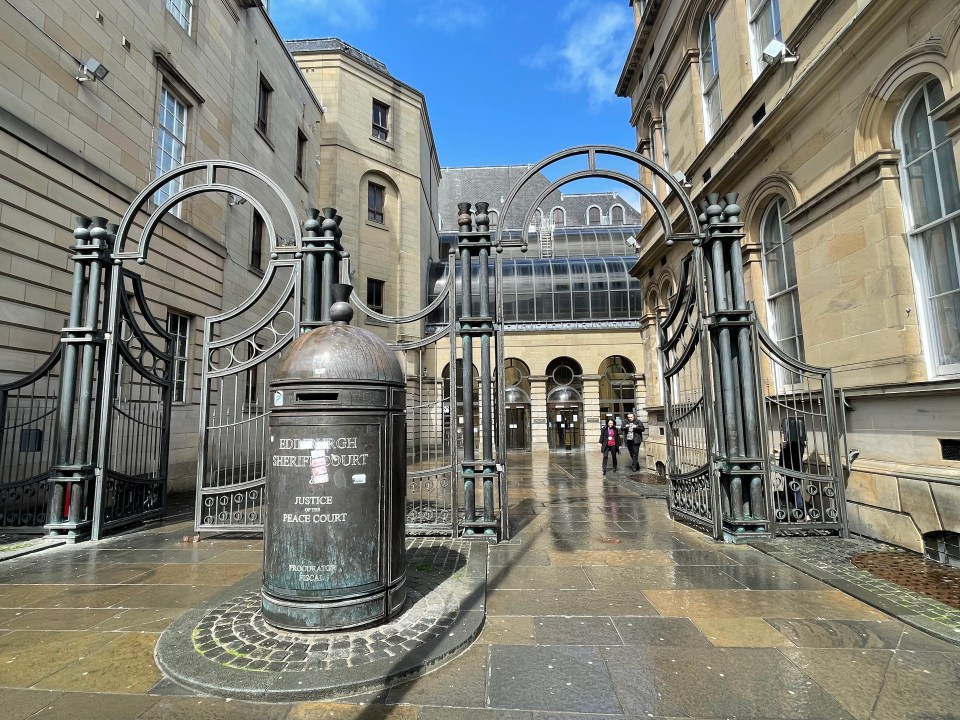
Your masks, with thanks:
<instances>
[{"instance_id":1,"label":"white frame of the large arched window at the right edge","mask_svg":"<svg viewBox=\"0 0 960 720\"><path fill-rule=\"evenodd\" d=\"M940 162L938 157L938 151L946 147L948 150L948 156L952 160L955 155L953 153L952 143L950 137L946 134L944 130L944 140L939 144L935 143L935 133L934 127L935 123L938 122L931 117L933 111L933 103L930 98L930 89L932 85L936 83L940 86L941 93L943 92L943 85L937 79L928 79L920 87L916 88L911 92L906 99L903 101L903 104L900 107L899 112L897 113L896 125L894 128L894 142L897 148L900 150L900 197L903 202L903 212L904 212L904 221L907 227L907 238L908 238L908 247L910 252L910 265L911 273L913 275L914 283L914 292L917 295L917 314L918 321L920 324L920 336L921 342L923 344L924 350L924 360L927 366L928 376L931 378L943 377L943 376L955 376L960 374L960 352L957 351L956 345L950 348L950 357L946 355L947 349L942 347L942 338L941 333L939 332L940 327L937 322L937 313L935 312L933 303L935 292L932 287L930 273L928 271L928 261L927 261L927 247L924 243L924 236L928 235L931 231L943 230L945 235L948 238L948 247L946 252L949 255L953 256L954 263L954 272L960 272L960 210L954 210L951 212L945 212L946 208L946 198L944 195L944 179L947 177L947 173L953 173L953 182L956 184L957 181L957 168L956 165L950 165L947 163L947 167L943 167L943 164ZM916 157L908 165L906 162L906 153L904 152L906 143L904 142L904 127L907 121L907 109L910 108L914 101L917 99L917 96L923 95L923 104L924 109L926 110L927 118L927 130L929 134L929 144L931 149L924 152L922 155ZM911 201L910 188L906 186L908 179L910 178L910 168L919 167L920 163L924 159L932 159L934 165L933 177L929 177L930 173L921 172L919 178L921 182L932 181L936 183L937 197L940 201L940 217L934 218L933 220L928 220L923 225L917 225L917 220L915 219L915 209ZM952 247L949 247L952 245ZM952 251L952 252L951 252ZM946 292L941 292L938 295L938 298L953 296L956 298L954 301L954 306L957 303L960 303L960 288L956 290L948 290ZM957 315L960 315L960 312L954 311ZM956 358L954 361L950 361L952 358Z\"/></svg>"}]
</instances>

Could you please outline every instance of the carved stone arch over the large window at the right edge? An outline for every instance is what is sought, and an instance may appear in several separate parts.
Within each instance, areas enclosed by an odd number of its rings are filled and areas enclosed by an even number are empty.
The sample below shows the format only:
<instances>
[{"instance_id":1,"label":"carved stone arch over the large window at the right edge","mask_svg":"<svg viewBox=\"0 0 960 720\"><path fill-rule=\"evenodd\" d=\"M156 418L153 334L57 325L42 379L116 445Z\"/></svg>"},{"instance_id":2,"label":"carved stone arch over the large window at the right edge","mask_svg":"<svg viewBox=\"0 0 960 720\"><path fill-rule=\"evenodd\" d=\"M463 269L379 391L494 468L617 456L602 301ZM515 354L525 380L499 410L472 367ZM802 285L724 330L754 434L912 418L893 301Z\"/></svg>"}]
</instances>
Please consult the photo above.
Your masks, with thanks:
<instances>
[{"instance_id":1,"label":"carved stone arch over the large window at the right edge","mask_svg":"<svg viewBox=\"0 0 960 720\"><path fill-rule=\"evenodd\" d=\"M960 40L956 44L960 46ZM900 106L925 79L937 78L944 94L953 95L955 87L947 68L943 46L932 40L910 48L890 64L870 88L860 110L854 162L860 163L876 152L893 149L893 128Z\"/></svg>"}]
</instances>

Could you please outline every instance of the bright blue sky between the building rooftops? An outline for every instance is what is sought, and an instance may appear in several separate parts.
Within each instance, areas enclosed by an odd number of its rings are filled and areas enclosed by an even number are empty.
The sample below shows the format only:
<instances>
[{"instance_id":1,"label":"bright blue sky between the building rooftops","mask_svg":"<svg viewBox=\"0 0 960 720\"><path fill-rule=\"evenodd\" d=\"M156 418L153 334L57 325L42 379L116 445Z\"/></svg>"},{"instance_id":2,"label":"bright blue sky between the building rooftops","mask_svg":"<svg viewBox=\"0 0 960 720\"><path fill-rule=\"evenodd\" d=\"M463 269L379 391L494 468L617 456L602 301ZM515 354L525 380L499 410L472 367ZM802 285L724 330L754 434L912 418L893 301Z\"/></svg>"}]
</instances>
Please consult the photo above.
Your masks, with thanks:
<instances>
[{"instance_id":1,"label":"bright blue sky between the building rooftops","mask_svg":"<svg viewBox=\"0 0 960 720\"><path fill-rule=\"evenodd\" d=\"M614 95L627 0L271 0L270 14L285 39L338 37L422 92L443 167L636 146Z\"/></svg>"}]
</instances>

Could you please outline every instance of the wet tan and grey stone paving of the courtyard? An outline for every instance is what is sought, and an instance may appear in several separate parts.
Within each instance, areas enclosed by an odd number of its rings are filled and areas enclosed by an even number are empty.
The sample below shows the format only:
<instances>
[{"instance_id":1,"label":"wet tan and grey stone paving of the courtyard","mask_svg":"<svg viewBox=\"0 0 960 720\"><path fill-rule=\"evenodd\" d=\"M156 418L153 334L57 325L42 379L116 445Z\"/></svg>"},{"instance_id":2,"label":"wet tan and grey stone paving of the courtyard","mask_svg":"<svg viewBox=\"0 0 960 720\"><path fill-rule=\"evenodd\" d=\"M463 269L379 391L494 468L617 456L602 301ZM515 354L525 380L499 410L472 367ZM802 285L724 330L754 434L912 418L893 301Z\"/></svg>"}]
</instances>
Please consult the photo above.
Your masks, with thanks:
<instances>
[{"instance_id":1,"label":"wet tan and grey stone paving of the courtyard","mask_svg":"<svg viewBox=\"0 0 960 720\"><path fill-rule=\"evenodd\" d=\"M960 718L949 609L840 572L846 541L714 543L599 460L511 456L514 536L489 548L479 638L412 682L336 701L201 696L154 662L168 626L260 572L259 538L189 542L185 513L5 560L0 717Z\"/></svg>"}]
</instances>

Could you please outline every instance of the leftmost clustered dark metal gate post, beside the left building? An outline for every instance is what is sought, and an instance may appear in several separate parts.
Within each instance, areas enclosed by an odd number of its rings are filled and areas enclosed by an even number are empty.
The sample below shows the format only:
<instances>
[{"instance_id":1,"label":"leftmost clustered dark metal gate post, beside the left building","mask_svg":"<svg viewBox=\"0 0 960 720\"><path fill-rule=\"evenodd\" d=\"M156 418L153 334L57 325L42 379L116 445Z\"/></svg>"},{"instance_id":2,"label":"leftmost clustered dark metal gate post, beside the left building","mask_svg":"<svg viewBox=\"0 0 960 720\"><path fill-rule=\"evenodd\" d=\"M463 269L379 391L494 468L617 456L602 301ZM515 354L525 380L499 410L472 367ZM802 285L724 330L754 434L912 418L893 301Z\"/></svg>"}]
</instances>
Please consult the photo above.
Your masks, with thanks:
<instances>
[{"instance_id":1,"label":"leftmost clustered dark metal gate post, beside the left building","mask_svg":"<svg viewBox=\"0 0 960 720\"><path fill-rule=\"evenodd\" d=\"M117 226L106 218L77 217L73 231L77 244L71 260L73 290L70 316L61 330L63 365L60 374L60 405L57 418L56 464L51 468L50 507L46 534L71 541L84 535L91 523L89 498L96 477L97 443L91 443L91 415L103 378L100 349L100 295ZM106 295L106 293L104 293ZM79 377L78 377L79 360ZM98 366L99 371L98 371ZM75 411L76 410L76 415ZM99 424L99 423L98 423Z\"/></svg>"}]
</instances>

